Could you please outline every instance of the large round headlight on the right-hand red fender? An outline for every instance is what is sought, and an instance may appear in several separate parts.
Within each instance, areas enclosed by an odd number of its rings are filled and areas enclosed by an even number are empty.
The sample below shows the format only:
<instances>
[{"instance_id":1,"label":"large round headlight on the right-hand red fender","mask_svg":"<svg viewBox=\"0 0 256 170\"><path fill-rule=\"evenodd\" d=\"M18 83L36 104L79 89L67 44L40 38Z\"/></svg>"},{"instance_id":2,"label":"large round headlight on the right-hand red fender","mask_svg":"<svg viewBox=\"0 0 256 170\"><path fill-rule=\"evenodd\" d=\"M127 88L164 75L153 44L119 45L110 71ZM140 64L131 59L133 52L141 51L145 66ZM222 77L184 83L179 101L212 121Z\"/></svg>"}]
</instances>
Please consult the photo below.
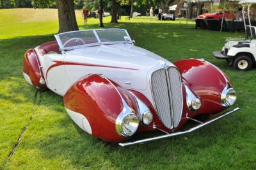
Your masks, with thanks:
<instances>
[{"instance_id":1,"label":"large round headlight on the right-hand red fender","mask_svg":"<svg viewBox=\"0 0 256 170\"><path fill-rule=\"evenodd\" d=\"M224 89L221 94L221 104L225 107L236 102L236 91L233 88Z\"/></svg>"}]
</instances>

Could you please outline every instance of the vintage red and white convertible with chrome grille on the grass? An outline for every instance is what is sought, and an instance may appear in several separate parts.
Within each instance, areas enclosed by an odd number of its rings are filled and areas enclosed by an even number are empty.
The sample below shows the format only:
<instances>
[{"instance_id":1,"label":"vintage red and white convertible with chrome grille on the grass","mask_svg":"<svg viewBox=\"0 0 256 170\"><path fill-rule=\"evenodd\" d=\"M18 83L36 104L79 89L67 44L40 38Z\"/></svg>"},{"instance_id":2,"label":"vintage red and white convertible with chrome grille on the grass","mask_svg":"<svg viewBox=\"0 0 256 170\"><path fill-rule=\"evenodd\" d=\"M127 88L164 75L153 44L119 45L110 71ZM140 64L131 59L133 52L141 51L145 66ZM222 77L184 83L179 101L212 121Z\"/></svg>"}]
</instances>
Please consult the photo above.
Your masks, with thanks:
<instances>
[{"instance_id":1,"label":"vintage red and white convertible with chrome grille on the grass","mask_svg":"<svg viewBox=\"0 0 256 170\"><path fill-rule=\"evenodd\" d=\"M72 31L29 49L23 75L36 88L64 97L74 122L103 141L127 146L192 132L236 102L227 75L204 59L170 61L136 47L125 29ZM199 119L199 120L198 120ZM188 120L200 123L179 132ZM132 135L165 134L127 141Z\"/></svg>"}]
</instances>

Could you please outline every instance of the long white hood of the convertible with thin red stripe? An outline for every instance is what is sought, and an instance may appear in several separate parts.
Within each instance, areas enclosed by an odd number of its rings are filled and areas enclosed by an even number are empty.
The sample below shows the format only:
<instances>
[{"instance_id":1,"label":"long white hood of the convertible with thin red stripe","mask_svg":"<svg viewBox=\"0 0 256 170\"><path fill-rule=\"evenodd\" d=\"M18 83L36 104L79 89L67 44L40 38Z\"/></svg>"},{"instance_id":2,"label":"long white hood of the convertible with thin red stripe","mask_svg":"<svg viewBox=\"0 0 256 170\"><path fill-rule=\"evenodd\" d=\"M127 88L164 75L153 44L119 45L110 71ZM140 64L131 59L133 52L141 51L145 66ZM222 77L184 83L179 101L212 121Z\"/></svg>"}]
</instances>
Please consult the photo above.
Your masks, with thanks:
<instances>
[{"instance_id":1,"label":"long white hood of the convertible with thin red stripe","mask_svg":"<svg viewBox=\"0 0 256 170\"><path fill-rule=\"evenodd\" d=\"M70 81L86 73L99 73L130 89L146 89L150 73L170 61L131 44L98 45L66 52L66 72ZM73 66L72 66L73 65ZM83 71L74 65L83 66ZM86 67L84 67L86 66ZM79 67L79 66L77 66ZM81 68L82 69L82 68Z\"/></svg>"}]
</instances>

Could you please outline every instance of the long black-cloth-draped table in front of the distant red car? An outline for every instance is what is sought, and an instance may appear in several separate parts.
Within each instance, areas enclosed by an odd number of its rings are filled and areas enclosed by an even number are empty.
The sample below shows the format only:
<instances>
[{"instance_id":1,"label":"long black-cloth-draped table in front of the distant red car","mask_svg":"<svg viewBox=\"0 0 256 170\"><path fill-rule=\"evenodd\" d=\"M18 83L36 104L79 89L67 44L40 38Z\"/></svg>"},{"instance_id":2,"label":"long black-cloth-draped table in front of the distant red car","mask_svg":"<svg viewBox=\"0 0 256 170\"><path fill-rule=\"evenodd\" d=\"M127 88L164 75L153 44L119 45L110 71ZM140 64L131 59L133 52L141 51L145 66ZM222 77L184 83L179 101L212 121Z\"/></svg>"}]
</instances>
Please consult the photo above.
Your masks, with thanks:
<instances>
[{"instance_id":1,"label":"long black-cloth-draped table in front of the distant red car","mask_svg":"<svg viewBox=\"0 0 256 170\"><path fill-rule=\"evenodd\" d=\"M252 21L251 24L252 26L256 26L256 21ZM246 21L246 25L249 25L248 21ZM200 29L220 31L221 20L196 19L195 28L197 29L198 27L200 27ZM244 31L244 22L239 22L235 20L223 20L222 30L230 32Z\"/></svg>"}]
</instances>

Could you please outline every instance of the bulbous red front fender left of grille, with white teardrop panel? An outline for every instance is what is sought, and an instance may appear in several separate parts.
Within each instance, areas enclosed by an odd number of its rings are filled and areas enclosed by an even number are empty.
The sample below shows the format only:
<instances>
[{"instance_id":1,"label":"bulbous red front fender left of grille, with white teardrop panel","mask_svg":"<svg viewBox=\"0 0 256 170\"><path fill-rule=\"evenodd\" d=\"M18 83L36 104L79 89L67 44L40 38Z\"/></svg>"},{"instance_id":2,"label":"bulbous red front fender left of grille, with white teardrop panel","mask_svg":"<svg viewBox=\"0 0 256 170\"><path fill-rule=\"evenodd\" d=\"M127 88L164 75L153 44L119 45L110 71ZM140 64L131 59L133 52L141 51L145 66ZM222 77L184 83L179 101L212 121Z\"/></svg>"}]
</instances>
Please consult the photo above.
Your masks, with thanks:
<instances>
[{"instance_id":1,"label":"bulbous red front fender left of grille, with white teardrop panel","mask_svg":"<svg viewBox=\"0 0 256 170\"><path fill-rule=\"evenodd\" d=\"M64 95L64 105L72 120L89 134L108 142L127 139L116 132L116 118L123 111L124 102L138 112L127 89L95 74L79 79Z\"/></svg>"}]
</instances>

